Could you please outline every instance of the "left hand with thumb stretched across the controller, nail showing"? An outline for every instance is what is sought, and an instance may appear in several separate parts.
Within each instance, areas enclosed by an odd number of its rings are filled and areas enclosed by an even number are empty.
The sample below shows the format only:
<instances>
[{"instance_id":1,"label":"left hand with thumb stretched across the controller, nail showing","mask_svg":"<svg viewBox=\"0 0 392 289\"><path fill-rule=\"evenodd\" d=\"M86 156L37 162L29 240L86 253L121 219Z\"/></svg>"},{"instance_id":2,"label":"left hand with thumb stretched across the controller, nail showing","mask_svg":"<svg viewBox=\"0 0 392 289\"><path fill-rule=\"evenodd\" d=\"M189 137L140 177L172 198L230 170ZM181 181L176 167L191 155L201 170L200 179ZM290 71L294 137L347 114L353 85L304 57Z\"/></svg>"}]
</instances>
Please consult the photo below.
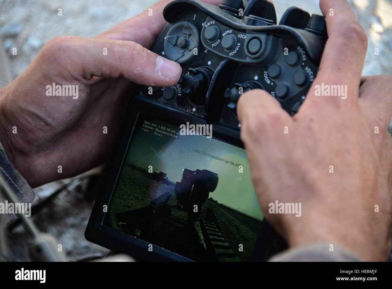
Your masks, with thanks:
<instances>
[{"instance_id":1,"label":"left hand with thumb stretched across the controller, nail showing","mask_svg":"<svg viewBox=\"0 0 392 289\"><path fill-rule=\"evenodd\" d=\"M107 159L132 95L132 82L148 86L178 82L180 65L148 50L166 24L162 10L169 2L154 5L154 16L145 11L93 38L54 38L0 91L0 142L31 187L74 176ZM53 82L78 85L78 98L47 96L46 86Z\"/></svg>"}]
</instances>

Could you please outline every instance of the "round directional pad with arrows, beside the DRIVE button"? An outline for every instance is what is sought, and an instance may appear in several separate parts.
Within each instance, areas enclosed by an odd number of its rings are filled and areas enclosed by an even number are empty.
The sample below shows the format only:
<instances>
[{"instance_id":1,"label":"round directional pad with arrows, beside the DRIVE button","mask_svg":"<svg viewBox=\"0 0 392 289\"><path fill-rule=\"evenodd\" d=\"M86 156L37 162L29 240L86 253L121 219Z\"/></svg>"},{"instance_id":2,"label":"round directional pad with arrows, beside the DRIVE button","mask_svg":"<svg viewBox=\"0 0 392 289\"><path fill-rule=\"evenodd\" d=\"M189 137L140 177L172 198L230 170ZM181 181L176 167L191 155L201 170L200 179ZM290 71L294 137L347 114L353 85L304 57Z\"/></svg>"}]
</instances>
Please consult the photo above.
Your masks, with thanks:
<instances>
[{"instance_id":1,"label":"round directional pad with arrows, beside the DRIVE button","mask_svg":"<svg viewBox=\"0 0 392 289\"><path fill-rule=\"evenodd\" d=\"M186 64L197 57L194 49L200 45L199 28L191 22L178 22L174 24L165 37L165 53L167 58L179 64Z\"/></svg>"}]
</instances>

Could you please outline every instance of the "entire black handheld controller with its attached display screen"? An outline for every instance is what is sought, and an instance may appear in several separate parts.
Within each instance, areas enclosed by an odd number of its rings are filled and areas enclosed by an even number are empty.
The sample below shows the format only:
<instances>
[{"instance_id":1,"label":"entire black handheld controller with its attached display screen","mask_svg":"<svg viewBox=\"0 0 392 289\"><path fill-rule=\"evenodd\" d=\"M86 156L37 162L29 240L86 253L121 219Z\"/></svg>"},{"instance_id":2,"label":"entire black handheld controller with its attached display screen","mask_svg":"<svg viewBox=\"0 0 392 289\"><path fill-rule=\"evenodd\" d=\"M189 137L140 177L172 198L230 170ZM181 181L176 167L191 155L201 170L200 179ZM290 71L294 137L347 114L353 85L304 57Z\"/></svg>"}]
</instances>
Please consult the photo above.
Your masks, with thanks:
<instances>
[{"instance_id":1,"label":"entire black handheld controller with its attached display screen","mask_svg":"<svg viewBox=\"0 0 392 289\"><path fill-rule=\"evenodd\" d=\"M287 245L257 205L236 106L262 89L294 115L318 71L325 19L290 7L277 25L267 0L176 0L163 16L152 51L178 62L181 78L130 100L85 236L140 260L268 260ZM188 122L212 124L214 138L180 134Z\"/></svg>"}]
</instances>

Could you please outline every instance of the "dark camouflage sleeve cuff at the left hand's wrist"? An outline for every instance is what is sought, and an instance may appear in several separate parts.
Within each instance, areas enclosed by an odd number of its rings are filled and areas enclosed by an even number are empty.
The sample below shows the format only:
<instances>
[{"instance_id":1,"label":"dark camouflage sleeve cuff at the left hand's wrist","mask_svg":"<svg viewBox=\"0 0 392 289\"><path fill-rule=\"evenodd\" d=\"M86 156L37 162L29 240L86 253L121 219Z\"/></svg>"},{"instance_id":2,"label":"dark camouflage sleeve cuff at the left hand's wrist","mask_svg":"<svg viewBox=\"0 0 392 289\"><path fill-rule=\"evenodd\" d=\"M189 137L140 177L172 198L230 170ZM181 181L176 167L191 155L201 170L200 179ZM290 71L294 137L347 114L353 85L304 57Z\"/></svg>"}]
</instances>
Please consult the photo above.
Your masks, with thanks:
<instances>
[{"instance_id":1,"label":"dark camouflage sleeve cuff at the left hand's wrist","mask_svg":"<svg viewBox=\"0 0 392 289\"><path fill-rule=\"evenodd\" d=\"M8 186L14 192L16 198L20 203L24 203L26 206L31 206L34 201L38 199L38 196L29 186L27 181L19 174L14 166L9 162L7 155L4 152L3 146L0 143L0 172L7 182ZM3 225L7 226L11 224L17 216L11 211L9 212L9 200L5 199L5 196L0 192L0 214L4 217L2 219Z\"/></svg>"}]
</instances>

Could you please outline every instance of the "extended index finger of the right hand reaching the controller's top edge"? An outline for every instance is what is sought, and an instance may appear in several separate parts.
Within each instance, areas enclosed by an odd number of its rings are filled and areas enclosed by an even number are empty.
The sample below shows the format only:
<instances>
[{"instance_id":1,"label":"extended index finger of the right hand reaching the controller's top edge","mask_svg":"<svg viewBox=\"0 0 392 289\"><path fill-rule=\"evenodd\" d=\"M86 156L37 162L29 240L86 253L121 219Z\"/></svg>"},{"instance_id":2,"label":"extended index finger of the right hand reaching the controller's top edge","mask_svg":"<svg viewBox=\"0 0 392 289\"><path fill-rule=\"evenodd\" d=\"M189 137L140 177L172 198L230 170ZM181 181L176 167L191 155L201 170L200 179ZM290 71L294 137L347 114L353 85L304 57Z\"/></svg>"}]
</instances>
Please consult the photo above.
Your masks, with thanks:
<instances>
[{"instance_id":1,"label":"extended index finger of the right hand reaching the controller's top edge","mask_svg":"<svg viewBox=\"0 0 392 289\"><path fill-rule=\"evenodd\" d=\"M320 0L320 9L327 20L328 40L318 75L309 91L307 101L321 102L323 106L326 102L331 104L336 104L338 101L346 104L357 102L367 51L367 35L346 0ZM317 85L346 87L346 95L316 96Z\"/></svg>"}]
</instances>

